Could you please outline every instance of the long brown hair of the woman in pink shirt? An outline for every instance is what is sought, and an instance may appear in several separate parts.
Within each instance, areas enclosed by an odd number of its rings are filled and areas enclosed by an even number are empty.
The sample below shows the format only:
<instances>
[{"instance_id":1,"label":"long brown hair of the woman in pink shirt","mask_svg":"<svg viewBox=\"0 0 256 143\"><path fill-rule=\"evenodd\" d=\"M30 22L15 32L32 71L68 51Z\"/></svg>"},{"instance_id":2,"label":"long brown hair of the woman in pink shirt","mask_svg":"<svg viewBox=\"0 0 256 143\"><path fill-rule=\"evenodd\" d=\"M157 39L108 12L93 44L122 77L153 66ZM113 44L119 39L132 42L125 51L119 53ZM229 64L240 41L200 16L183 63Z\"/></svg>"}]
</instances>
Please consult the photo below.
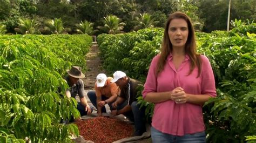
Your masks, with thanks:
<instances>
[{"instance_id":1,"label":"long brown hair of the woman in pink shirt","mask_svg":"<svg viewBox=\"0 0 256 143\"><path fill-rule=\"evenodd\" d=\"M173 19L184 19L187 22L188 37L187 37L187 42L185 44L185 53L190 57L190 60L191 60L190 72L188 73L188 75L191 74L194 68L197 66L198 67L197 77L199 77L201 73L201 59L200 59L200 55L196 52L196 35L194 33L194 28L190 20L190 17L188 17L183 12L174 12L167 19L167 22L165 24L165 29L164 29L164 39L161 47L161 54L158 60L156 73L158 75L161 71L164 70L166 59L173 50L172 43L170 41L169 34L168 34L169 25Z\"/></svg>"}]
</instances>

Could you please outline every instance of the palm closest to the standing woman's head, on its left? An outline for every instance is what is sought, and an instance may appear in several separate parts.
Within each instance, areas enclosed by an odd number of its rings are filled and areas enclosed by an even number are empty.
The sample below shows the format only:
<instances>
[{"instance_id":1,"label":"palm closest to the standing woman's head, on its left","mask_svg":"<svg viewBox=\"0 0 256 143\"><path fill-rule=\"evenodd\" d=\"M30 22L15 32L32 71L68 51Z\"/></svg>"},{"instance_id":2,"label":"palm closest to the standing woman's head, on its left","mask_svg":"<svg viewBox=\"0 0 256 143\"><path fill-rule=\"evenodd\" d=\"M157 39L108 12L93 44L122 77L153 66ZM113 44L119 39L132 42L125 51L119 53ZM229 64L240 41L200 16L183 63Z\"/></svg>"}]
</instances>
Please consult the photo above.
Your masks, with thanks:
<instances>
[{"instance_id":1,"label":"palm closest to the standing woman's head, on its left","mask_svg":"<svg viewBox=\"0 0 256 143\"><path fill-rule=\"evenodd\" d=\"M154 25L158 23L158 21L154 21L152 16L148 13L140 13L139 17L135 17L134 23L136 24L133 30L145 29L145 28L153 28Z\"/></svg>"}]
</instances>

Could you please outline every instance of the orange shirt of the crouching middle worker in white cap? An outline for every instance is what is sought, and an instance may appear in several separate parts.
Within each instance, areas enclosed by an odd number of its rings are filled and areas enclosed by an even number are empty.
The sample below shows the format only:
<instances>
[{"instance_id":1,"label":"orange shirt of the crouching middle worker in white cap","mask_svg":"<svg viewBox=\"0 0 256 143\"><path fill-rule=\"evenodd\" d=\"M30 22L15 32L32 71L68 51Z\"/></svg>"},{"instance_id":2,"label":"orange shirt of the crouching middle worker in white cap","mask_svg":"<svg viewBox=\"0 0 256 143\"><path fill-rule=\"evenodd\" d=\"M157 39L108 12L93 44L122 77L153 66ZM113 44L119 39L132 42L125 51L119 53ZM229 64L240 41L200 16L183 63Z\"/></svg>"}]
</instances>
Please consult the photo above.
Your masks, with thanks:
<instances>
[{"instance_id":1,"label":"orange shirt of the crouching middle worker in white cap","mask_svg":"<svg viewBox=\"0 0 256 143\"><path fill-rule=\"evenodd\" d=\"M95 92L97 97L105 96L107 98L110 98L111 96L118 96L120 94L120 89L116 85L116 83L111 83L112 77L108 77L106 80L106 85L103 87L97 87L97 84L95 83Z\"/></svg>"}]
</instances>

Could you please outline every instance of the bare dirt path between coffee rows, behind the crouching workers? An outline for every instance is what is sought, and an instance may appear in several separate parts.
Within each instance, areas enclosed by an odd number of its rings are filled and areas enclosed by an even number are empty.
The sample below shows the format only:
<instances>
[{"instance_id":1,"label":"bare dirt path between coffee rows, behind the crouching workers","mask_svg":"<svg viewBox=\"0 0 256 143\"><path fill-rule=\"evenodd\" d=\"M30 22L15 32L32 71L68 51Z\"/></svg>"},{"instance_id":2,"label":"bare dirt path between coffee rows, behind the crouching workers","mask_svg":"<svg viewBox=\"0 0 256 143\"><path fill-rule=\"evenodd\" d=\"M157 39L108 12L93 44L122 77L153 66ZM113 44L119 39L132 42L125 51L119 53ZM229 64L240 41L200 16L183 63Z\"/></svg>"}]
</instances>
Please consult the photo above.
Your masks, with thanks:
<instances>
[{"instance_id":1,"label":"bare dirt path between coffee rows, behind the crouching workers","mask_svg":"<svg viewBox=\"0 0 256 143\"><path fill-rule=\"evenodd\" d=\"M89 50L89 53L86 55L86 66L87 71L85 72L85 78L82 80L84 81L85 85L85 93L87 94L88 91L94 90L94 85L96 81L96 76L99 73L106 73L105 70L102 68L101 60L99 58L99 49L97 43L92 43L92 46ZM87 96L86 96L87 98ZM79 98L78 98L79 99ZM87 98L89 105L93 106ZM94 108L93 113L96 113L96 108ZM109 107L107 107L107 112L110 112ZM151 138L144 139L141 141L136 141L138 143L149 143L152 142Z\"/></svg>"}]
</instances>

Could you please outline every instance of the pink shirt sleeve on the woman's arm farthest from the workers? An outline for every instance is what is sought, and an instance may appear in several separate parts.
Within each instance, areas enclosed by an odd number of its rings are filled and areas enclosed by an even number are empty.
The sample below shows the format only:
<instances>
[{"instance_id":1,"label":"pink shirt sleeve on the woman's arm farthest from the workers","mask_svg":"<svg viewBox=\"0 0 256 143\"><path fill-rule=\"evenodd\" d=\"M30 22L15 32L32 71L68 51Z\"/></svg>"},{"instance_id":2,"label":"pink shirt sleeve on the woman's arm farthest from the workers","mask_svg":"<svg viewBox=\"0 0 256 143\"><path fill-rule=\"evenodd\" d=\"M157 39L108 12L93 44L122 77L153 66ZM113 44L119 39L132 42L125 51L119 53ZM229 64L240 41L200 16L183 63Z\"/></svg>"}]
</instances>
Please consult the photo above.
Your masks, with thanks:
<instances>
[{"instance_id":1,"label":"pink shirt sleeve on the woman's arm farthest from the workers","mask_svg":"<svg viewBox=\"0 0 256 143\"><path fill-rule=\"evenodd\" d=\"M201 94L207 94L211 97L216 97L215 79L212 66L207 57L201 56L202 59L202 82Z\"/></svg>"}]
</instances>

